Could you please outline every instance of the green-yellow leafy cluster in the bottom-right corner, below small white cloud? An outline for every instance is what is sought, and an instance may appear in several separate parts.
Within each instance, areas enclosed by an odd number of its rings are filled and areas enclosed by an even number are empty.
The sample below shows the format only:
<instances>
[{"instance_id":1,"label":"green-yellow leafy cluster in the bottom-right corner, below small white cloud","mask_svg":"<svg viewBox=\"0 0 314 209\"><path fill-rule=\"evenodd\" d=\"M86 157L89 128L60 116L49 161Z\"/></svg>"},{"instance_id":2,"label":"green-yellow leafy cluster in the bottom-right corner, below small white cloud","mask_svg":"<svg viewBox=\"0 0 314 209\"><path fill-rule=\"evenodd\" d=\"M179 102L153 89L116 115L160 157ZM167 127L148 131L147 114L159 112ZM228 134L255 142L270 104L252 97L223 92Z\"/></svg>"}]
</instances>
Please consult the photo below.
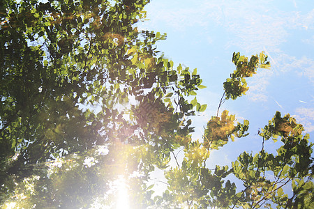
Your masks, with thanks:
<instances>
[{"instance_id":1,"label":"green-yellow leafy cluster in the bottom-right corner, below small white cloud","mask_svg":"<svg viewBox=\"0 0 314 209\"><path fill-rule=\"evenodd\" d=\"M285 128L283 129L283 124ZM235 194L239 198L237 206L260 208L263 204L271 208L275 203L279 208L312 208L313 160L312 143L309 135L302 135L303 127L289 114L281 117L279 112L269 121L260 136L267 141L281 138L283 145L276 155L267 153L264 146L255 155L242 153L232 163L232 173L244 183L244 189ZM283 192L286 185L292 185L293 194Z\"/></svg>"}]
</instances>

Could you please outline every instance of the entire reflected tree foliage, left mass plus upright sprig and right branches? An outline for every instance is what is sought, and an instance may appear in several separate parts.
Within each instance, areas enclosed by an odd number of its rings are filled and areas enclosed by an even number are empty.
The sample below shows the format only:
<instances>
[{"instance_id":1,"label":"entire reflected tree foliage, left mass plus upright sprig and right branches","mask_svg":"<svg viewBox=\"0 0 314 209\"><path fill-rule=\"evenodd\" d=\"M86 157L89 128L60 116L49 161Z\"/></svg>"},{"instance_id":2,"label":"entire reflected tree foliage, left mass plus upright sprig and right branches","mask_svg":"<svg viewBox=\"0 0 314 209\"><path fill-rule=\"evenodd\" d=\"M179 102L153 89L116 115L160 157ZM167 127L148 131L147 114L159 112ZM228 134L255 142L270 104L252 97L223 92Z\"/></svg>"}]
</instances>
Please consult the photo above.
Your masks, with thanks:
<instances>
[{"instance_id":1,"label":"entire reflected tree foliage, left mass plus upright sprig and right branches","mask_svg":"<svg viewBox=\"0 0 314 209\"><path fill-rule=\"evenodd\" d=\"M223 85L217 116L202 140L191 139L190 116L207 105L189 96L205 86L196 69L158 54L165 34L137 30L147 3L1 3L1 206L114 207L112 184L124 178L132 208L311 208L313 144L289 115L276 113L260 132L260 153L242 153L230 169L206 167L211 150L246 137L248 121L235 124L218 111L248 91L246 77L269 68L267 56L233 54L237 69ZM264 141L278 138L283 146L267 153ZM182 148L179 160L174 151ZM147 185L156 168L169 185L163 196Z\"/></svg>"}]
</instances>

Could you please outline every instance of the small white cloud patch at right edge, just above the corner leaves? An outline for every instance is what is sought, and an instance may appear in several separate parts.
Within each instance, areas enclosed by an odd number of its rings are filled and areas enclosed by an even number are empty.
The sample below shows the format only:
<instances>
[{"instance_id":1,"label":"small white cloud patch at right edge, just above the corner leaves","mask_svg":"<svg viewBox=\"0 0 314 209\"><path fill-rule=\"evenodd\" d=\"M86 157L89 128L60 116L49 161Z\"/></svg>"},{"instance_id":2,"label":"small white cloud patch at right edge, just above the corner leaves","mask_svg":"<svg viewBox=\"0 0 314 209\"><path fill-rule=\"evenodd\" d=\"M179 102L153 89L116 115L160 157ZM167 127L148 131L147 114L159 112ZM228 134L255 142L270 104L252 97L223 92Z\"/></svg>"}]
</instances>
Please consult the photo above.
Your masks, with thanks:
<instances>
[{"instance_id":1,"label":"small white cloud patch at right edge, just above the corner leaves","mask_svg":"<svg viewBox=\"0 0 314 209\"><path fill-rule=\"evenodd\" d=\"M314 131L314 108L299 107L295 110L298 123L304 125L306 132Z\"/></svg>"}]
</instances>

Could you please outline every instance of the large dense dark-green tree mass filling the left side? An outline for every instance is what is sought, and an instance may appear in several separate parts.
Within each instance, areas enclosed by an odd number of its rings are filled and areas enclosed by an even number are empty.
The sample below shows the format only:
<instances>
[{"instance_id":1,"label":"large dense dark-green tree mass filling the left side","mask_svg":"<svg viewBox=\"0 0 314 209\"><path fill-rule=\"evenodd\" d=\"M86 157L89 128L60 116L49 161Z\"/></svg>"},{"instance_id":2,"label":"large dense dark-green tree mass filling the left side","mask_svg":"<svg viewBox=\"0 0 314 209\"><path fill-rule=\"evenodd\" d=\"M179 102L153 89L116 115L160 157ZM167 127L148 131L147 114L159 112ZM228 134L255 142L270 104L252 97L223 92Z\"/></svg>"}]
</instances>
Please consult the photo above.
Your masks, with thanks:
<instances>
[{"instance_id":1,"label":"large dense dark-green tree mass filling the left side","mask_svg":"<svg viewBox=\"0 0 314 209\"><path fill-rule=\"evenodd\" d=\"M40 176L34 181L37 193L23 194L29 204L88 207L91 202L83 196L89 194L92 201L104 194L105 186L98 183L106 185L124 173L121 169L147 175L154 166L165 167L173 150L171 136L178 135L176 130L188 134L188 125L181 121L192 111L181 94L188 91L180 73L172 61L156 57L155 42L165 36L133 26L144 17L146 3L2 4L2 201L17 195L16 189L26 189L24 180ZM163 102L170 88L180 101L176 113L171 102L169 107ZM135 104L129 101L132 96ZM98 146L110 148L108 155L98 156L96 164L103 166L82 167L84 156ZM47 174L47 162L64 156L62 169ZM139 194L144 194L140 185Z\"/></svg>"}]
</instances>

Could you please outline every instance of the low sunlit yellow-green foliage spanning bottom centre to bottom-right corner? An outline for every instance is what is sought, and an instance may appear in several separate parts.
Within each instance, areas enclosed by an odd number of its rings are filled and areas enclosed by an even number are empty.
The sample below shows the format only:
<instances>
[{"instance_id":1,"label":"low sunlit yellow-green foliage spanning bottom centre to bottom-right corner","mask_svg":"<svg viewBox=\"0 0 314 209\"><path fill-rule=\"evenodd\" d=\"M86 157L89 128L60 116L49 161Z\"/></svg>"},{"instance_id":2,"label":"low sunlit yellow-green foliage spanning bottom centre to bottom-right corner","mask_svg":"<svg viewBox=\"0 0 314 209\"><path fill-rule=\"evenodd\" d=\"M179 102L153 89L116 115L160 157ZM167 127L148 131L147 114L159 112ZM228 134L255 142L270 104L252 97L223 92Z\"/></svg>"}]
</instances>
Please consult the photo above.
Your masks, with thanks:
<instances>
[{"instance_id":1,"label":"low sunlit yellow-green foliage spanning bottom centre to bottom-right corner","mask_svg":"<svg viewBox=\"0 0 314 209\"><path fill-rule=\"evenodd\" d=\"M223 115L222 118L226 118L226 113ZM211 123L209 121L209 127ZM223 137L227 137L230 130L236 130L235 126L231 127L220 126L211 134L207 129L204 135L219 139L224 133ZM226 130L222 131L223 128ZM241 153L231 168L217 165L214 171L205 164L209 158L208 148L217 148L225 142L216 142L216 146L211 147L205 140L203 143L193 141L186 146L181 167L167 171L169 186L163 196L157 197L157 203L172 208L313 208L313 144L308 141L309 135L302 132L302 125L294 118L289 114L281 117L277 112L260 132L260 152ZM278 143L278 138L282 146L276 154L267 153L264 141L274 139L274 143ZM290 189L292 194L287 192Z\"/></svg>"}]
</instances>

